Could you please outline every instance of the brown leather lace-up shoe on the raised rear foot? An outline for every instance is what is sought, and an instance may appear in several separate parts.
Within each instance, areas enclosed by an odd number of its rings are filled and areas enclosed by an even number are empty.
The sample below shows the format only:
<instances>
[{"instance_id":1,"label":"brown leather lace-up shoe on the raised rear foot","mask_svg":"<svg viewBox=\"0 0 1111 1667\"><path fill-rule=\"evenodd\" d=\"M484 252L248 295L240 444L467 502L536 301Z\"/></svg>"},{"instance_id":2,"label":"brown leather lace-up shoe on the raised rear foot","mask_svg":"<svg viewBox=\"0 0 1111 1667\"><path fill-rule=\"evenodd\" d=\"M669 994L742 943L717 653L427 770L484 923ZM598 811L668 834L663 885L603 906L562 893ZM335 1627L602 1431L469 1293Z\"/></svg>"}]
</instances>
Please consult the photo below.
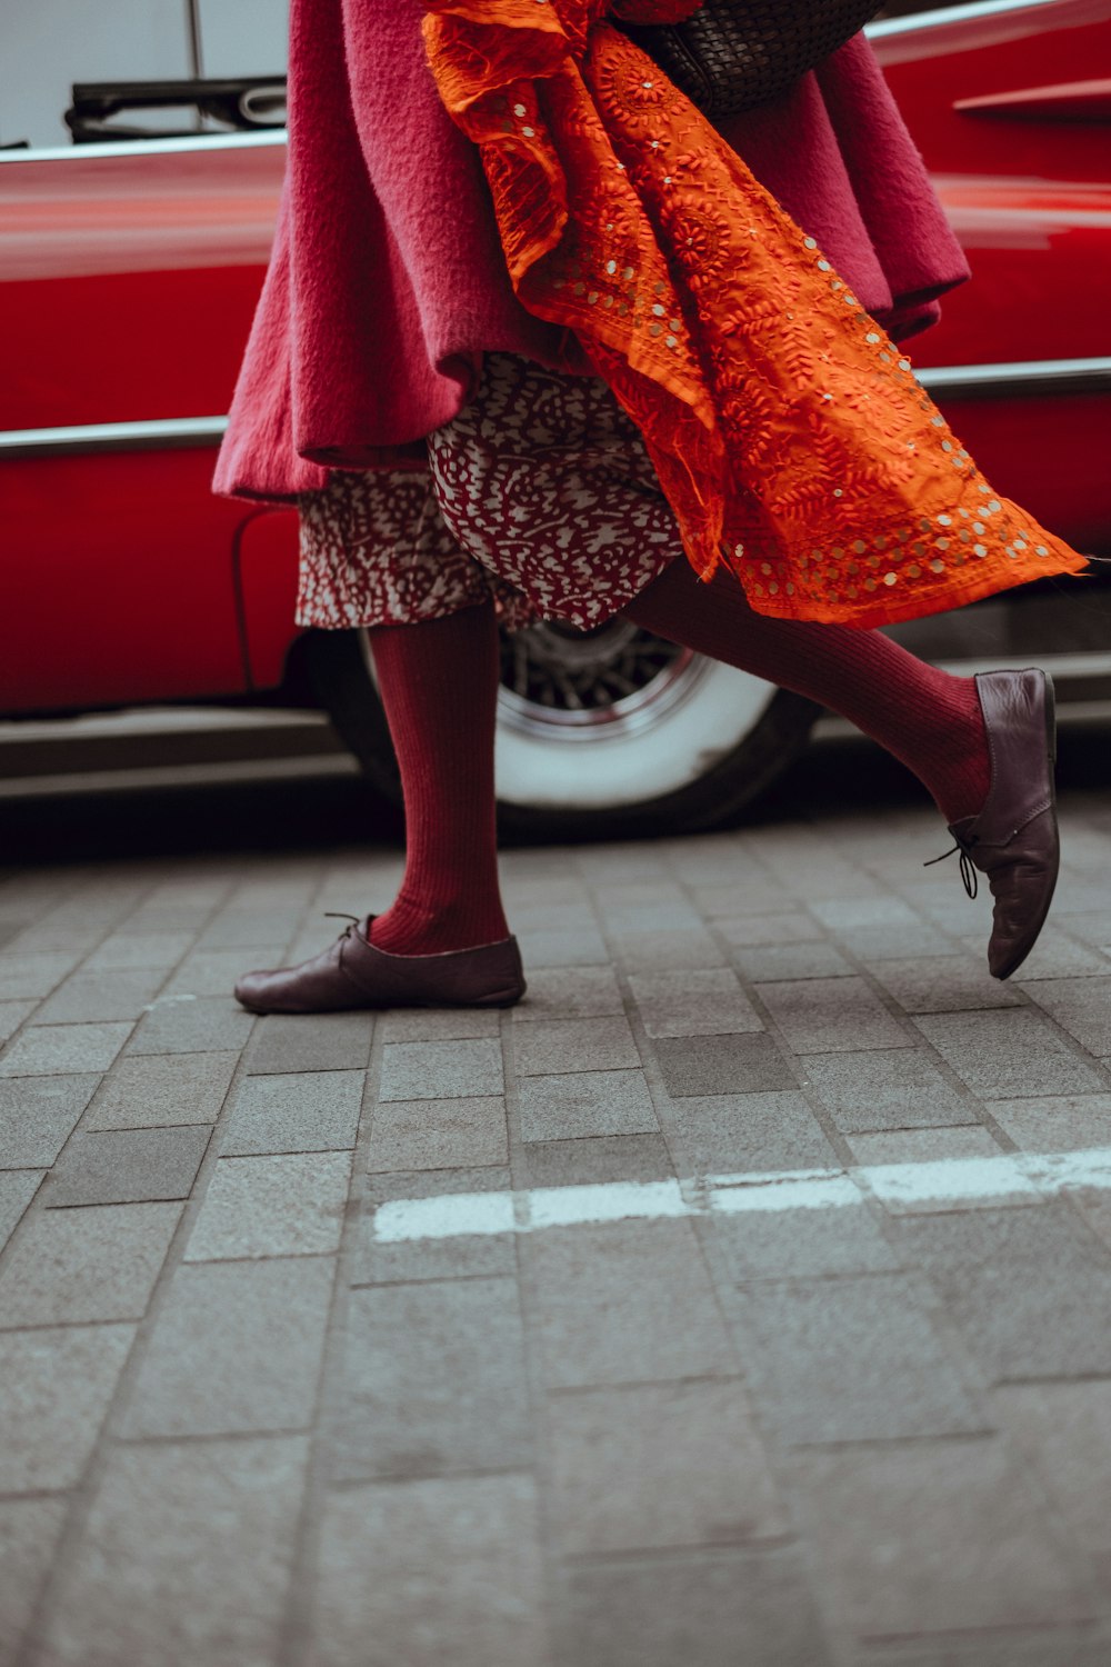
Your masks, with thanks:
<instances>
[{"instance_id":1,"label":"brown leather lace-up shoe on the raised rear foot","mask_svg":"<svg viewBox=\"0 0 1111 1667\"><path fill-rule=\"evenodd\" d=\"M1031 667L981 672L976 690L991 748L991 787L979 815L951 823L949 834L971 897L976 877L969 865L988 875L994 897L988 967L993 977L1009 979L1034 947L1058 884L1053 683Z\"/></svg>"}]
</instances>

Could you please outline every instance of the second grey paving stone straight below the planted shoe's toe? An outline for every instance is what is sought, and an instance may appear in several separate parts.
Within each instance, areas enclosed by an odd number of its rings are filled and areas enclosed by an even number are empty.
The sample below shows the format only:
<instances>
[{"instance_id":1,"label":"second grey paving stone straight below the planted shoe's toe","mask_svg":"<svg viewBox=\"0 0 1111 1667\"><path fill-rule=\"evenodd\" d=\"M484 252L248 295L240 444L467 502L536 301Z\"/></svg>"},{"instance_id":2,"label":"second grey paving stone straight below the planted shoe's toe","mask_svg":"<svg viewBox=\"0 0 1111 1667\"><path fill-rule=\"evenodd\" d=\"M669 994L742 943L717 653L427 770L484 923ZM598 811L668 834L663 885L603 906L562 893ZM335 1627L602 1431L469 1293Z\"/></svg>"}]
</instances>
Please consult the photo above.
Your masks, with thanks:
<instances>
[{"instance_id":1,"label":"second grey paving stone straight below the planted shoe's toe","mask_svg":"<svg viewBox=\"0 0 1111 1667\"><path fill-rule=\"evenodd\" d=\"M358 1135L361 1070L247 1077L232 1102L223 1155L350 1150Z\"/></svg>"}]
</instances>

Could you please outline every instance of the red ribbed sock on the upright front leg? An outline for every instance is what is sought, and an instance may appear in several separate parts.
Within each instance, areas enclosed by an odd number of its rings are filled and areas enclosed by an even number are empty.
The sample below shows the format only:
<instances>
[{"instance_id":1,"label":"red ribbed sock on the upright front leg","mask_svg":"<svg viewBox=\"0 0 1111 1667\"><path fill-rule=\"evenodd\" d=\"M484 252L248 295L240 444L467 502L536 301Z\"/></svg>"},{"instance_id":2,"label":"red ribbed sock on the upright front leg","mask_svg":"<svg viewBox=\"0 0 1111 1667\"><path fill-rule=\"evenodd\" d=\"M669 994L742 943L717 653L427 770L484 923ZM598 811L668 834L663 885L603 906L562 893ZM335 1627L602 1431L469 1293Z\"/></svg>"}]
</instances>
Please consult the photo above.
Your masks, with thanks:
<instances>
[{"instance_id":1,"label":"red ribbed sock on the upright front leg","mask_svg":"<svg viewBox=\"0 0 1111 1667\"><path fill-rule=\"evenodd\" d=\"M440 955L510 935L498 890L493 733L498 627L491 603L370 632L405 792L405 879L370 942Z\"/></svg>"}]
</instances>

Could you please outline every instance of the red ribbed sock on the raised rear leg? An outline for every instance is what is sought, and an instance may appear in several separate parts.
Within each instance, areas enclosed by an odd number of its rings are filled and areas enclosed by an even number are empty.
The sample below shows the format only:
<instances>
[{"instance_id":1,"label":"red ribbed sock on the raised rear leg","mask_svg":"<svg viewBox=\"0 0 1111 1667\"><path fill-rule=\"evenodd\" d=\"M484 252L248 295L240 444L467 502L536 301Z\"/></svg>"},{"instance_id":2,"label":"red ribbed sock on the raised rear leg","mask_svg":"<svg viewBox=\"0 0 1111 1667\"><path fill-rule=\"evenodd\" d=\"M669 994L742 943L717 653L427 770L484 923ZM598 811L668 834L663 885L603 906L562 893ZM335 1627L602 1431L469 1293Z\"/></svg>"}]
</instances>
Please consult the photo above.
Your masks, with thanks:
<instances>
[{"instance_id":1,"label":"red ribbed sock on the raised rear leg","mask_svg":"<svg viewBox=\"0 0 1111 1667\"><path fill-rule=\"evenodd\" d=\"M874 630L755 613L731 573L703 585L685 560L625 613L670 642L839 712L914 772L946 822L983 807L991 763L971 677L939 672Z\"/></svg>"}]
</instances>

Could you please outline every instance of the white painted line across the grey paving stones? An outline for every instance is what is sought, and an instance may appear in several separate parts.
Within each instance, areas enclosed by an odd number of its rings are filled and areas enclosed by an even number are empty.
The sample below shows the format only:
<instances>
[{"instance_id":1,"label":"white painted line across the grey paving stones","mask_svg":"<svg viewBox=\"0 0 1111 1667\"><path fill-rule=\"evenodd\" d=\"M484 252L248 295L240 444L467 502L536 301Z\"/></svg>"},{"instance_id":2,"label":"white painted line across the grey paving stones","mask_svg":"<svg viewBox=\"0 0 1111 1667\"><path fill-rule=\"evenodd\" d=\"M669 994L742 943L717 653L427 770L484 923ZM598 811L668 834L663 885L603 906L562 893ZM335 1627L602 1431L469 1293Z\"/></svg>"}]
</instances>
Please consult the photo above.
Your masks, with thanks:
<instances>
[{"instance_id":1,"label":"white painted line across the grey paving stones","mask_svg":"<svg viewBox=\"0 0 1111 1667\"><path fill-rule=\"evenodd\" d=\"M1051 1199L1076 1189L1111 1192L1111 1147L1081 1152L1001 1152L998 1157L933 1164L868 1164L858 1169L755 1170L688 1180L606 1182L596 1187L536 1187L530 1192L448 1192L390 1199L375 1210L375 1242L530 1234L598 1222L660 1222L766 1210L838 1210L879 1204L963 1204Z\"/></svg>"}]
</instances>

